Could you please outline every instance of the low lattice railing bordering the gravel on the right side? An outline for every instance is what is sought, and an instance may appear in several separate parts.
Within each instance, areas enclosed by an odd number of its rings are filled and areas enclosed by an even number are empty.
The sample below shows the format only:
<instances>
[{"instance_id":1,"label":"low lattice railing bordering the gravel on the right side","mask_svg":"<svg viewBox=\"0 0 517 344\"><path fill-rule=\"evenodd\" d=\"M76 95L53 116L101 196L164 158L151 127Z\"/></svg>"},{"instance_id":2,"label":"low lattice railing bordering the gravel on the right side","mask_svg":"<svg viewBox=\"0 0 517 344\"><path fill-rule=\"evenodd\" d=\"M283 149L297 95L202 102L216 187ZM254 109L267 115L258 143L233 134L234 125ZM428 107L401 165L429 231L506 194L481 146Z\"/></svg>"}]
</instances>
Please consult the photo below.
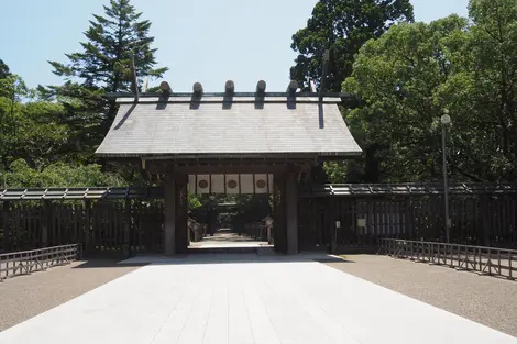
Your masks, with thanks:
<instances>
[{"instance_id":1,"label":"low lattice railing bordering the gravel on the right side","mask_svg":"<svg viewBox=\"0 0 517 344\"><path fill-rule=\"evenodd\" d=\"M458 270L476 271L514 280L517 277L517 251L440 242L380 238L377 254L417 263L444 265Z\"/></svg>"}]
</instances>

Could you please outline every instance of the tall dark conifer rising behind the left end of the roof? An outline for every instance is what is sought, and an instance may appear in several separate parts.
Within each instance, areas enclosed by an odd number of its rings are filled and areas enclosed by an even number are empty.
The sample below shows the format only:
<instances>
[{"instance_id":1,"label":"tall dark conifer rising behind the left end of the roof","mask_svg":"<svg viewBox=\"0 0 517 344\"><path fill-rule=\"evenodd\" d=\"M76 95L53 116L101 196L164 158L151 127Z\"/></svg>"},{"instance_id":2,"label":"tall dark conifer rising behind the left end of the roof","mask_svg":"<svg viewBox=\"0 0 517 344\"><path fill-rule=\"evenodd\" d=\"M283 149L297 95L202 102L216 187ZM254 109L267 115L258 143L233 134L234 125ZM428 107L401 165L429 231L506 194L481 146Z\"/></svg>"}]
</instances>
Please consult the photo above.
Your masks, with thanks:
<instances>
[{"instance_id":1,"label":"tall dark conifer rising behind the left end of the roof","mask_svg":"<svg viewBox=\"0 0 517 344\"><path fill-rule=\"evenodd\" d=\"M100 100L105 92L131 90L131 56L139 77L160 78L168 68L156 68L151 22L141 20L130 0L111 0L105 14L94 14L85 32L82 51L65 54L68 62L50 62L54 74L65 79L63 86L40 88L43 96L54 96L68 109L77 126L77 147L92 152L108 132L114 115L114 101ZM84 129L84 130L82 130Z\"/></svg>"}]
</instances>

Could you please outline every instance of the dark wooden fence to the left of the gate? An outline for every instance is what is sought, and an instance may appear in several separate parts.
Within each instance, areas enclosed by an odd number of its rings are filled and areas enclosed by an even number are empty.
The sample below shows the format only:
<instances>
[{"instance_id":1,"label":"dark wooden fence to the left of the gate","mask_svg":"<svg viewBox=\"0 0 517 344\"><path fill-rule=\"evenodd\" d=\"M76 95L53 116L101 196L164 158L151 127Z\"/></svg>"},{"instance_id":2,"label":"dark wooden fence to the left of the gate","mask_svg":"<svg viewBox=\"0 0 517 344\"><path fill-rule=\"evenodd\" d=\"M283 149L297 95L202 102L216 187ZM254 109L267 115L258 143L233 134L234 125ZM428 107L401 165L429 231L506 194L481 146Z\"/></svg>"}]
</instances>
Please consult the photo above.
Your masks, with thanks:
<instances>
[{"instance_id":1,"label":"dark wooden fence to the left of the gate","mask_svg":"<svg viewBox=\"0 0 517 344\"><path fill-rule=\"evenodd\" d=\"M0 252L79 243L87 254L162 251L163 202L3 202Z\"/></svg>"}]
</instances>

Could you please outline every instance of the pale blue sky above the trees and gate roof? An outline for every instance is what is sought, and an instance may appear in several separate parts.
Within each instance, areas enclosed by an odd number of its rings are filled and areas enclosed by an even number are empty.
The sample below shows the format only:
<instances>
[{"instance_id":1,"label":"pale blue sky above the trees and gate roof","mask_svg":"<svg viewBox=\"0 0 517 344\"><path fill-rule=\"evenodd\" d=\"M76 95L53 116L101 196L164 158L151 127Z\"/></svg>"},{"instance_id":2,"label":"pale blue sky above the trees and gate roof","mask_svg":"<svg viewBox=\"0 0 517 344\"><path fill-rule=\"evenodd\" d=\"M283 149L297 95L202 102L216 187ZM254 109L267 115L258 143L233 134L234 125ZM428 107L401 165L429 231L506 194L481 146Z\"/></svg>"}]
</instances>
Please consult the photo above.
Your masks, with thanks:
<instances>
[{"instance_id":1,"label":"pale blue sky above the trees and gate roof","mask_svg":"<svg viewBox=\"0 0 517 344\"><path fill-rule=\"evenodd\" d=\"M0 58L30 87L61 79L47 60L79 51L92 13L109 0L0 0ZM292 35L304 27L317 0L133 0L152 21L157 60L169 67L173 90L222 91L228 79L250 91L258 79L285 90L296 54ZM413 0L418 21L466 15L468 0ZM151 81L152 85L157 81Z\"/></svg>"}]
</instances>

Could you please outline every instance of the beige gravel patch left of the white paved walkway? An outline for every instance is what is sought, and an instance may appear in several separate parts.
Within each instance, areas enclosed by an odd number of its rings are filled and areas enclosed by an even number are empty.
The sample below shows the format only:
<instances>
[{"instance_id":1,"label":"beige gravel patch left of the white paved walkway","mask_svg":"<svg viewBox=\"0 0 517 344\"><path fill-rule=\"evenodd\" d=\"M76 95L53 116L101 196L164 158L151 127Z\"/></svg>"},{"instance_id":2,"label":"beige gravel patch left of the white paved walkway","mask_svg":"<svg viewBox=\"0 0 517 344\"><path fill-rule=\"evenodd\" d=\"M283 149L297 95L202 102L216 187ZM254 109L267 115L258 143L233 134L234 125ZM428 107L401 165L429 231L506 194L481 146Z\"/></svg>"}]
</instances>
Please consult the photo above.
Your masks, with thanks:
<instances>
[{"instance_id":1,"label":"beige gravel patch left of the white paved walkway","mask_svg":"<svg viewBox=\"0 0 517 344\"><path fill-rule=\"evenodd\" d=\"M0 282L0 331L135 270L113 260L74 262Z\"/></svg>"}]
</instances>

